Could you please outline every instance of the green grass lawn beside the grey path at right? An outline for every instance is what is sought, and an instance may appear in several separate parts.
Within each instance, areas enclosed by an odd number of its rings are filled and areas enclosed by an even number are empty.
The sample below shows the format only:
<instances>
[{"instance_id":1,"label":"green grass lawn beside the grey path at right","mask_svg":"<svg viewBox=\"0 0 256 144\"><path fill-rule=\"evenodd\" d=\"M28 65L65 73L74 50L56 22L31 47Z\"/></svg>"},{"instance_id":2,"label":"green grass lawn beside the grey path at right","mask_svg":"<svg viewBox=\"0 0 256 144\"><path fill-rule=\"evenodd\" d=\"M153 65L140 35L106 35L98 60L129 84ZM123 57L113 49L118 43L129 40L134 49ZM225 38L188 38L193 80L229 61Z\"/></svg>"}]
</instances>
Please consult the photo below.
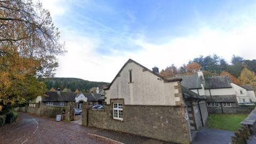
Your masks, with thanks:
<instances>
[{"instance_id":1,"label":"green grass lawn beside the grey path at right","mask_svg":"<svg viewBox=\"0 0 256 144\"><path fill-rule=\"evenodd\" d=\"M246 117L247 114L210 114L206 125L214 129L237 131Z\"/></svg>"}]
</instances>

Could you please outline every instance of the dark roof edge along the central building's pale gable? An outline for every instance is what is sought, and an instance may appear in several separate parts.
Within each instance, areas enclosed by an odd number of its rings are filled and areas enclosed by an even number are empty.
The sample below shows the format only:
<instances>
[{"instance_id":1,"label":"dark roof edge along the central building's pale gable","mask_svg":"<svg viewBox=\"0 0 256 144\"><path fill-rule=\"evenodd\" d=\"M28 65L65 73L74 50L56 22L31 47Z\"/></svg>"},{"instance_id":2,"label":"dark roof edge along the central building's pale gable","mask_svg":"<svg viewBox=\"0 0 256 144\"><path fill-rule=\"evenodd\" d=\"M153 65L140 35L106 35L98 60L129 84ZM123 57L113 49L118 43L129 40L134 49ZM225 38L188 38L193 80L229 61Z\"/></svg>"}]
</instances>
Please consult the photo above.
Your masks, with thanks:
<instances>
[{"instance_id":1,"label":"dark roof edge along the central building's pale gable","mask_svg":"<svg viewBox=\"0 0 256 144\"><path fill-rule=\"evenodd\" d=\"M119 72L117 73L117 75L115 76L115 78L113 79L113 81L109 84L109 86L108 86L105 90L109 90L110 86L115 82L116 78L119 76L119 74L120 74L120 73L122 72L122 70L125 68L125 66L126 66L128 63L131 63L131 62L133 62L133 63L135 63L136 65L140 66L141 68L143 68L143 70L149 71L149 72L152 73L153 75L158 76L159 78L163 79L163 81L166 82L166 83L182 81L181 78L166 79L166 78L164 78L163 76L154 73L152 70L150 70L150 69L148 69L148 68L146 68L146 67L140 65L140 63L138 63L138 62L136 62L136 61L134 61L134 60L132 60L132 59L129 59L129 60L124 64L124 66L119 70Z\"/></svg>"}]
</instances>

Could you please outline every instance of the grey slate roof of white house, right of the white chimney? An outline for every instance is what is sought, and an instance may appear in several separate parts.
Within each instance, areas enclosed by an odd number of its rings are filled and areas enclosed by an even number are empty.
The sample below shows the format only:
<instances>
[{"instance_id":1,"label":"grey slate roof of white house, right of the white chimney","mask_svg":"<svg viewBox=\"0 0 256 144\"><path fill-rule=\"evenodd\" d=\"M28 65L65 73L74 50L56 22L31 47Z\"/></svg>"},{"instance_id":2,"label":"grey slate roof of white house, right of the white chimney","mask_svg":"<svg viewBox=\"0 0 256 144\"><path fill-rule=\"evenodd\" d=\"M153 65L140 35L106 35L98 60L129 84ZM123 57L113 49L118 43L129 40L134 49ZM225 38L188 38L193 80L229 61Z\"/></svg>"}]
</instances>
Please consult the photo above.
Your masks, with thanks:
<instances>
[{"instance_id":1,"label":"grey slate roof of white house, right of the white chimney","mask_svg":"<svg viewBox=\"0 0 256 144\"><path fill-rule=\"evenodd\" d=\"M232 86L230 84L230 79L227 75L205 78L204 89L223 89L230 87Z\"/></svg>"}]
</instances>

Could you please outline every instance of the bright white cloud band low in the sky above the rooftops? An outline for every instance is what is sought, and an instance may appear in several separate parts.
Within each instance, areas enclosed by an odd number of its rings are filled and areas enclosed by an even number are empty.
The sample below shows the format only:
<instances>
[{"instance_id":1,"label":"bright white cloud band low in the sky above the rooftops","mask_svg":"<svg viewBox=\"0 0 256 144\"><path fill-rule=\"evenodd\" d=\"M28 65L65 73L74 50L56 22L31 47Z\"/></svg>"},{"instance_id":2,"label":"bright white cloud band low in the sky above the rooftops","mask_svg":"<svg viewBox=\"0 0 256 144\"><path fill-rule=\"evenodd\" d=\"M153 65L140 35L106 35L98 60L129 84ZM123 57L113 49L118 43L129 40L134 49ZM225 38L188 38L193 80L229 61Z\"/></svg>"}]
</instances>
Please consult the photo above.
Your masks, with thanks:
<instances>
[{"instance_id":1,"label":"bright white cloud band low in the sky above the rooftops","mask_svg":"<svg viewBox=\"0 0 256 144\"><path fill-rule=\"evenodd\" d=\"M43 1L43 5L48 7L47 9L56 17L66 12L66 7L59 5L59 3L60 1L58 0ZM233 54L240 55L246 59L255 59L255 21L245 17L244 14L236 14L236 17L234 15L230 15L230 17L225 15L225 21L230 18L227 23L239 23L233 28L222 29L221 25L225 23L219 23L219 27L211 27L211 23L202 22L199 32L197 31L184 37L172 38L162 44L147 42L145 41L147 36L141 35L139 39L133 39L133 43L141 46L142 49L136 52L111 49L109 51L113 53L112 55L97 53L98 45L101 43L100 35L98 38L84 36L70 27L59 27L61 41L66 42L68 53L59 58L59 68L56 76L111 82L129 58L149 69L154 66L163 69L172 63L176 66L181 66L199 55L205 56L214 53L226 60L230 60ZM217 21L220 19L218 18ZM226 25L225 27L228 26Z\"/></svg>"}]
</instances>

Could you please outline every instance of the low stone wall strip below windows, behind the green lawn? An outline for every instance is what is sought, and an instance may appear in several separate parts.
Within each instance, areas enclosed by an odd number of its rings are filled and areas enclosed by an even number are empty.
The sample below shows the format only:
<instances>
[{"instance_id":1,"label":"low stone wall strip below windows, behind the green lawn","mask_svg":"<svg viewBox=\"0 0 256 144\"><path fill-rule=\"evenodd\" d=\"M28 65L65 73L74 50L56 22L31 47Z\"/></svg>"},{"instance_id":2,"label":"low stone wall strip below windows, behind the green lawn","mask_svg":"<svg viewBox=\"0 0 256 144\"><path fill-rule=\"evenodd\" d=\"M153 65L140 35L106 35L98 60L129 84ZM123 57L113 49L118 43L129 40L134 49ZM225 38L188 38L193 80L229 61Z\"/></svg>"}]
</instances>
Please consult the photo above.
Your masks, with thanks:
<instances>
[{"instance_id":1,"label":"low stone wall strip below windows, behind the green lawn","mask_svg":"<svg viewBox=\"0 0 256 144\"><path fill-rule=\"evenodd\" d=\"M211 114L249 114L253 108L249 107L208 107ZM222 113L223 110L223 113Z\"/></svg>"}]
</instances>

